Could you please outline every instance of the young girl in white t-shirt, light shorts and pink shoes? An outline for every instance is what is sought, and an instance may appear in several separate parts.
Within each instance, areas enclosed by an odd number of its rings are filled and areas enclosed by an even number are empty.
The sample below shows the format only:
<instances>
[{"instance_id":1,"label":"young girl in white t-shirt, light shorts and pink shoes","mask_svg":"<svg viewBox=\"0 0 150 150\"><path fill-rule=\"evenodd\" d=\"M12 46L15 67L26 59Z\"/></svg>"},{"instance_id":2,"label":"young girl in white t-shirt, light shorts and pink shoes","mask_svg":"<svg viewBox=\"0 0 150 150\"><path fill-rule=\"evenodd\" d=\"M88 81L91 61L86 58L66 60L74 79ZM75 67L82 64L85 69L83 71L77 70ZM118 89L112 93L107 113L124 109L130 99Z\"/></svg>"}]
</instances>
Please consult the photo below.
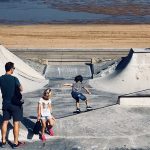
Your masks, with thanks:
<instances>
[{"instance_id":1,"label":"young girl in white t-shirt, light shorts and pink shoes","mask_svg":"<svg viewBox=\"0 0 150 150\"><path fill-rule=\"evenodd\" d=\"M41 139L42 141L45 141L45 129L46 125L48 124L48 130L49 134L51 136L54 135L54 132L52 130L53 125L55 124L55 118L52 116L52 106L51 106L51 96L52 92L51 89L46 89L43 92L43 96L40 98L38 102L38 117L37 120L42 121L42 131L41 131Z\"/></svg>"}]
</instances>

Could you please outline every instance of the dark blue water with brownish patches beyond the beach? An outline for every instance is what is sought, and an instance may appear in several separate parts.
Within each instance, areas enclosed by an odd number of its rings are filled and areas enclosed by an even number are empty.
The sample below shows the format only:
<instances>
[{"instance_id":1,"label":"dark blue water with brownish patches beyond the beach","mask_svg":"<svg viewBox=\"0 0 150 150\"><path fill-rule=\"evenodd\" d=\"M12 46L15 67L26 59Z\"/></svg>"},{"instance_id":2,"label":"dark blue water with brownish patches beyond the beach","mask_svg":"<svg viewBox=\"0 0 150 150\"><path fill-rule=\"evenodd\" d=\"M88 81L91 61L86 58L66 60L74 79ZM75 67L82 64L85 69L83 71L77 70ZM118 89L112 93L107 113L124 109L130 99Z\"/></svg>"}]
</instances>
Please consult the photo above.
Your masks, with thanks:
<instances>
[{"instance_id":1,"label":"dark blue water with brownish patches beyond the beach","mask_svg":"<svg viewBox=\"0 0 150 150\"><path fill-rule=\"evenodd\" d=\"M0 23L149 24L150 0L0 0Z\"/></svg>"}]
</instances>

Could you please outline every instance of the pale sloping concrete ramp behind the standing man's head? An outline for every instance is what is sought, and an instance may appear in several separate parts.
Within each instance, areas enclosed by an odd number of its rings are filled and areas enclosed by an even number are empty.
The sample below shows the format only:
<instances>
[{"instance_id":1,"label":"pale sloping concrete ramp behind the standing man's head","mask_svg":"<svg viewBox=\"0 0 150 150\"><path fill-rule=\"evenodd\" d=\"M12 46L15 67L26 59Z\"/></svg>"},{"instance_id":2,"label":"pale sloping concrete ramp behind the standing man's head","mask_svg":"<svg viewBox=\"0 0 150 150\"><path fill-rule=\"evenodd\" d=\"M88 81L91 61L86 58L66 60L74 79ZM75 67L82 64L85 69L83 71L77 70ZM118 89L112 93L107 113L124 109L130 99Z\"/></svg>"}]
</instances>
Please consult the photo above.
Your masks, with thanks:
<instances>
[{"instance_id":1,"label":"pale sloping concrete ramp behind the standing man's head","mask_svg":"<svg viewBox=\"0 0 150 150\"><path fill-rule=\"evenodd\" d=\"M14 76L19 78L24 92L34 91L48 84L48 81L40 73L32 69L4 46L0 45L0 75L5 73L4 67L8 61L15 64Z\"/></svg>"}]
</instances>

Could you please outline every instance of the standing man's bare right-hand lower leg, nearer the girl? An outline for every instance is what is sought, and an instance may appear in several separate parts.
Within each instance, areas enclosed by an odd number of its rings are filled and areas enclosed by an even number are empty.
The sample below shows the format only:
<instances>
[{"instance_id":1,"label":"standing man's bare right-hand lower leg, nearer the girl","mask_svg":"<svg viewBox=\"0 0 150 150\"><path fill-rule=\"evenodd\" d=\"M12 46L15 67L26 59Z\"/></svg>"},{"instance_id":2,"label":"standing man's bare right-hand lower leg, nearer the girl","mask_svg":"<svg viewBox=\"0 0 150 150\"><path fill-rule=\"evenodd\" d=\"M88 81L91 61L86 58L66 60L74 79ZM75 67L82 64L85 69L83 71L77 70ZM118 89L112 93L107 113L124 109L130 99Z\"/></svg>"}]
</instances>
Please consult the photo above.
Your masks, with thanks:
<instances>
[{"instance_id":1,"label":"standing man's bare right-hand lower leg, nearer the girl","mask_svg":"<svg viewBox=\"0 0 150 150\"><path fill-rule=\"evenodd\" d=\"M13 128L13 133L14 133L14 144L18 144L18 138L19 138L19 129L20 129L20 121L14 121L14 128Z\"/></svg>"}]
</instances>

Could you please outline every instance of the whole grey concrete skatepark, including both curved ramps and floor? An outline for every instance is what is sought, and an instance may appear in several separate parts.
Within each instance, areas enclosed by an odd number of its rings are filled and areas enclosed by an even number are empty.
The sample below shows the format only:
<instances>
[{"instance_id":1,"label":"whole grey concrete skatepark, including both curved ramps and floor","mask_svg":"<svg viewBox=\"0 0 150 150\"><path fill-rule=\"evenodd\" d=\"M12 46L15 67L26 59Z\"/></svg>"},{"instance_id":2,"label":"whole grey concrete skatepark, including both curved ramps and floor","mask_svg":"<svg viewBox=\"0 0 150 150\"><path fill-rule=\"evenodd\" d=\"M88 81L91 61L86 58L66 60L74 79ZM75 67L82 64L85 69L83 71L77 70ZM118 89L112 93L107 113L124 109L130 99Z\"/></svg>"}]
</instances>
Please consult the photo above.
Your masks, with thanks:
<instances>
[{"instance_id":1,"label":"whole grey concrete skatepark, including both curved ramps and floor","mask_svg":"<svg viewBox=\"0 0 150 150\"><path fill-rule=\"evenodd\" d=\"M24 87L24 118L21 122L20 140L27 144L22 149L150 149L150 105L144 105L149 100L150 92L149 49L129 49L128 54L117 59L116 63L103 62L94 79L91 79L90 66L83 65L83 62L71 66L47 64L43 69L44 74L40 74L34 70L37 68L29 67L2 45L0 54L0 74L5 73L5 63L13 61L16 67L14 75ZM79 73L84 76L84 82L92 93L87 97L93 111L73 114L75 102L70 95L71 88L66 88L63 84L72 83L73 77ZM57 121L54 127L55 136L47 134L47 141L42 143L32 129L36 122L37 102L47 87L53 91L53 115ZM124 95L125 99L118 102L120 96ZM143 101L136 103L132 99L134 96L142 97ZM145 96L147 99L144 99ZM83 102L81 110L85 110ZM9 124L8 139L13 141L12 121ZM7 149L11 149L10 145Z\"/></svg>"}]
</instances>

